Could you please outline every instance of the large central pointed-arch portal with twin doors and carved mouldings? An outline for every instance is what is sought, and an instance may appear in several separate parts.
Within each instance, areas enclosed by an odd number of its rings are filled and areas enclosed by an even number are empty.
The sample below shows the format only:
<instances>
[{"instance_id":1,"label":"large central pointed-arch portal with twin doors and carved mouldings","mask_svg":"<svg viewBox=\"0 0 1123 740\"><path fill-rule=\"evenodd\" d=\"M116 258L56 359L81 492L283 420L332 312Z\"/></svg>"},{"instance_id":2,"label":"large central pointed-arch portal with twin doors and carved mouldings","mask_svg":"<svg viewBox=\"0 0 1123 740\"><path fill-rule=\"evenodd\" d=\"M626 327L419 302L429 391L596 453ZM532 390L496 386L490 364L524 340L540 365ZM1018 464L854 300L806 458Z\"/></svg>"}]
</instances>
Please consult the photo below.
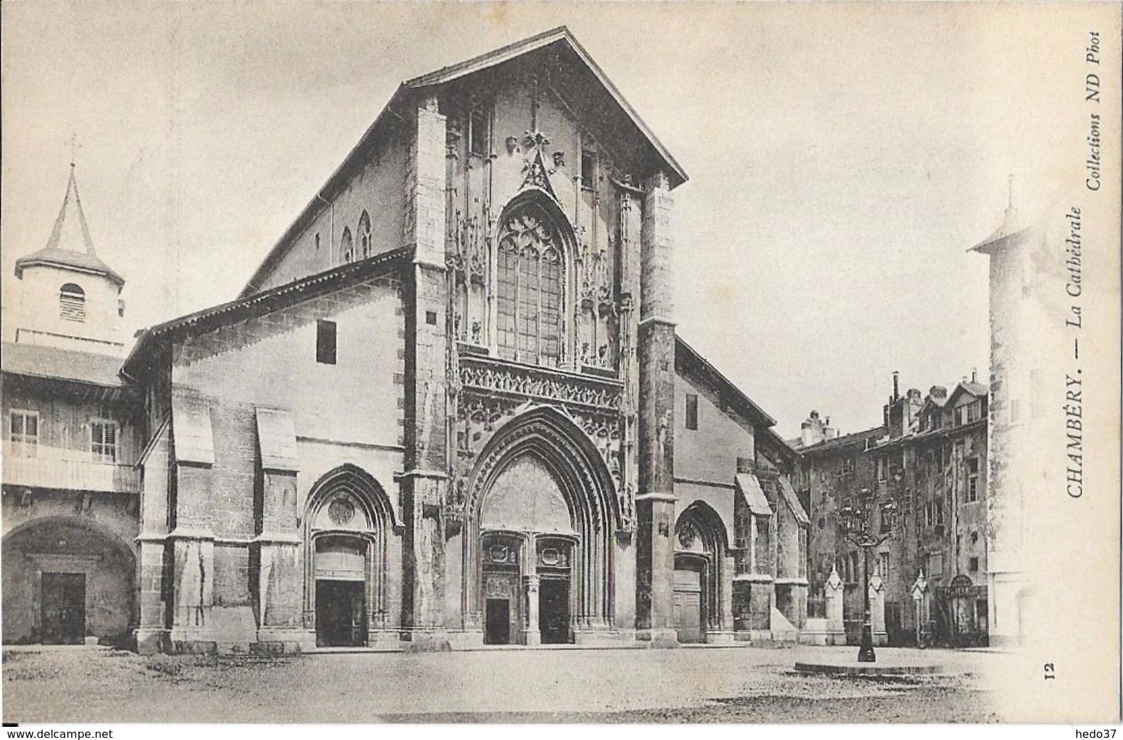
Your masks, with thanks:
<instances>
[{"instance_id":1,"label":"large central pointed-arch portal with twin doors and carved mouldings","mask_svg":"<svg viewBox=\"0 0 1123 740\"><path fill-rule=\"evenodd\" d=\"M604 462L565 414L504 424L468 485L465 627L528 645L611 630L615 508Z\"/></svg>"}]
</instances>

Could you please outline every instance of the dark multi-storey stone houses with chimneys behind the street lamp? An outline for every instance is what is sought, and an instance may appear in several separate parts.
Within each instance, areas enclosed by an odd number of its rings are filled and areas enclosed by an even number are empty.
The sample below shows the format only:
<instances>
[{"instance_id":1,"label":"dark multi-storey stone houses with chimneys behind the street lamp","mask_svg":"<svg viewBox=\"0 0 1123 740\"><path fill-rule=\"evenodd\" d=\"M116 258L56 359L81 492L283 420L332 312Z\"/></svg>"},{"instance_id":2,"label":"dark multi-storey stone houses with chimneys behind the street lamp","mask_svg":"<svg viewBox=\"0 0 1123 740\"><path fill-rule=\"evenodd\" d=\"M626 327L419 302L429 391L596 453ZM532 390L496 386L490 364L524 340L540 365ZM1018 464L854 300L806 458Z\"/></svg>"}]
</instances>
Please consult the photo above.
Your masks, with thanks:
<instances>
[{"instance_id":1,"label":"dark multi-storey stone houses with chimneys behind the street lamp","mask_svg":"<svg viewBox=\"0 0 1123 740\"><path fill-rule=\"evenodd\" d=\"M839 511L858 505L865 488L874 501L868 531L892 533L869 564L884 603L882 639L909 645L923 633L943 645L986 642L987 404L987 387L974 374L950 392L932 386L926 395L916 389L902 395L894 375L880 426L839 436L814 411L803 423L794 444L812 520L813 612L823 609L833 569L844 584L848 641L860 638L865 564L840 530ZM896 512L885 510L889 502ZM922 594L914 592L917 579Z\"/></svg>"}]
</instances>

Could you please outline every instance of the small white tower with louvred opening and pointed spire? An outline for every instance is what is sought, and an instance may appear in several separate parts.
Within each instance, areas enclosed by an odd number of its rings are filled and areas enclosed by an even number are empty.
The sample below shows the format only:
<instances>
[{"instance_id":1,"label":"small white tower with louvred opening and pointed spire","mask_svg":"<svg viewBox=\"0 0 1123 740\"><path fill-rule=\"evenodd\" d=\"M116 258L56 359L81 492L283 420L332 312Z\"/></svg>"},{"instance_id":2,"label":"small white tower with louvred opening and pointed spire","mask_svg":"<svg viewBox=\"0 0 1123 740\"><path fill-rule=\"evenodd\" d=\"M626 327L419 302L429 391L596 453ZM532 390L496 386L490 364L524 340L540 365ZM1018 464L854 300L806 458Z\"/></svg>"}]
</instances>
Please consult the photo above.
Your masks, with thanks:
<instances>
[{"instance_id":1,"label":"small white tower with louvred opening and pointed spire","mask_svg":"<svg viewBox=\"0 0 1123 740\"><path fill-rule=\"evenodd\" d=\"M16 341L120 355L125 278L94 252L74 170L72 162L46 246L16 261L21 282Z\"/></svg>"}]
</instances>

